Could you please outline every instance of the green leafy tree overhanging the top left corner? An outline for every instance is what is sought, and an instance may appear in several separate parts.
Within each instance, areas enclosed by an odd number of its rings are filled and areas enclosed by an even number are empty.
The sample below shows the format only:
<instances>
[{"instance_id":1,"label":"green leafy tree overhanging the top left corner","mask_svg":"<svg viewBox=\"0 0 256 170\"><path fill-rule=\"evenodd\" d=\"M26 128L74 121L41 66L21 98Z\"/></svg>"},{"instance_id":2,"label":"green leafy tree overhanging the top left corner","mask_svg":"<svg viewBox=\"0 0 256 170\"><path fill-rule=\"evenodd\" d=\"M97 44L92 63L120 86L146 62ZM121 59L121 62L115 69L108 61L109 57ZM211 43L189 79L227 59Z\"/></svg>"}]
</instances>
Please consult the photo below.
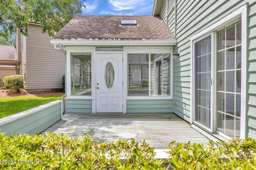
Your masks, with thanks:
<instances>
[{"instance_id":1,"label":"green leafy tree overhanging the top left corner","mask_svg":"<svg viewBox=\"0 0 256 170\"><path fill-rule=\"evenodd\" d=\"M27 36L29 21L43 24L43 32L52 37L82 12L84 1L0 0L0 37L8 41L16 29Z\"/></svg>"}]
</instances>

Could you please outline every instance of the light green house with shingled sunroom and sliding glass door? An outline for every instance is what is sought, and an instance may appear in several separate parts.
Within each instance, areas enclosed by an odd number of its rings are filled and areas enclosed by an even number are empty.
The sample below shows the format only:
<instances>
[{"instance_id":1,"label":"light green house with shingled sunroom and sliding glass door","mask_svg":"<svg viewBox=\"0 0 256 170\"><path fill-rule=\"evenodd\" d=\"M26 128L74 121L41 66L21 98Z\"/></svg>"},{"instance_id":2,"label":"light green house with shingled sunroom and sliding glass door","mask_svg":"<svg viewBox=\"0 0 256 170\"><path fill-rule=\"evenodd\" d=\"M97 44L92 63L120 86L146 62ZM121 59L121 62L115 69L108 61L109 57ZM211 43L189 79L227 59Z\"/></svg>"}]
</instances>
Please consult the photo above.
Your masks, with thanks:
<instances>
[{"instance_id":1,"label":"light green house with shingled sunroom and sliding glass door","mask_svg":"<svg viewBox=\"0 0 256 170\"><path fill-rule=\"evenodd\" d=\"M174 113L219 139L256 139L256 2L155 0L153 16L76 16L66 113Z\"/></svg>"}]
</instances>

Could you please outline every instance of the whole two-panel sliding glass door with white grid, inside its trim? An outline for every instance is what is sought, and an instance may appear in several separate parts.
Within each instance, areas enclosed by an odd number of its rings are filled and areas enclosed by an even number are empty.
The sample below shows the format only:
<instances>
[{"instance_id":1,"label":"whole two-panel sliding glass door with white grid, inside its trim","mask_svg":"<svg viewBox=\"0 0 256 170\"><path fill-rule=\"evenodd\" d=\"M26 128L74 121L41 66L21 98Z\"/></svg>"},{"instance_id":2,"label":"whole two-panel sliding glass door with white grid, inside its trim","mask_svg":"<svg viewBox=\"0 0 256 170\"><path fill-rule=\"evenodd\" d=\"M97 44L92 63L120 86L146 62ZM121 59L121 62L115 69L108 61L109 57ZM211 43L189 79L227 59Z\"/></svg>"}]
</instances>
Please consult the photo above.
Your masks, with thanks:
<instances>
[{"instance_id":1,"label":"whole two-panel sliding glass door with white grid, inside its trim","mask_svg":"<svg viewBox=\"0 0 256 170\"><path fill-rule=\"evenodd\" d=\"M236 22L193 42L194 123L225 138L240 137L241 27Z\"/></svg>"}]
</instances>

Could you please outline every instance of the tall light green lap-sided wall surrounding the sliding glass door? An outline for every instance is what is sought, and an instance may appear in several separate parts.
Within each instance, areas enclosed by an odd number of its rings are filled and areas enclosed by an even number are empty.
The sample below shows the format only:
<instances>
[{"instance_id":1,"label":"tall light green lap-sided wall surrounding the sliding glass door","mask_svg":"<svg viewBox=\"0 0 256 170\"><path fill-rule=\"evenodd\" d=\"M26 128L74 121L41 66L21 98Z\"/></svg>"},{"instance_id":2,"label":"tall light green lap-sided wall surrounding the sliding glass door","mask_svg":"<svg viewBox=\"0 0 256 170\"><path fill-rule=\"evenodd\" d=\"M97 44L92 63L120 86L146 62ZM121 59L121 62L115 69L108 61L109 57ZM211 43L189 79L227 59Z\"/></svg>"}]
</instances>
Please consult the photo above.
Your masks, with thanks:
<instances>
[{"instance_id":1,"label":"tall light green lap-sided wall surrounding the sliding glass door","mask_svg":"<svg viewBox=\"0 0 256 170\"><path fill-rule=\"evenodd\" d=\"M217 22L236 8L248 3L246 136L256 138L256 2L255 1L189 1L175 0L177 6L166 12L163 0L161 18L177 38L174 60L173 112L190 121L190 38ZM174 3L174 4L175 4ZM176 17L175 17L176 16ZM167 22L168 21L168 22ZM246 57L246 56L245 56Z\"/></svg>"}]
</instances>

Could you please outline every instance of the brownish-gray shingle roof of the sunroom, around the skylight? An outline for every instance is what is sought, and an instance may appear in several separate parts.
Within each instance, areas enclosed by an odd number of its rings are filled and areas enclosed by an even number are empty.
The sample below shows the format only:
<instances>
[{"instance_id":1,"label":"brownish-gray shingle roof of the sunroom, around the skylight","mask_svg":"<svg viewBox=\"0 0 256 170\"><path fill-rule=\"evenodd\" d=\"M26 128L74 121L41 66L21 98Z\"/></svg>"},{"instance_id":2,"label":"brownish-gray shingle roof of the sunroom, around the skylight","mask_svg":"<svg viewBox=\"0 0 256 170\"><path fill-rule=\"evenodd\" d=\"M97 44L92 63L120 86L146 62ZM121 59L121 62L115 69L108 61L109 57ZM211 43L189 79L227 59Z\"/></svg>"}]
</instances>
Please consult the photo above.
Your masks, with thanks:
<instances>
[{"instance_id":1,"label":"brownish-gray shingle roof of the sunroom, around the skylight","mask_svg":"<svg viewBox=\"0 0 256 170\"><path fill-rule=\"evenodd\" d=\"M121 20L136 20L138 25L121 25ZM155 16L76 16L54 39L92 40L174 40L164 21Z\"/></svg>"}]
</instances>

